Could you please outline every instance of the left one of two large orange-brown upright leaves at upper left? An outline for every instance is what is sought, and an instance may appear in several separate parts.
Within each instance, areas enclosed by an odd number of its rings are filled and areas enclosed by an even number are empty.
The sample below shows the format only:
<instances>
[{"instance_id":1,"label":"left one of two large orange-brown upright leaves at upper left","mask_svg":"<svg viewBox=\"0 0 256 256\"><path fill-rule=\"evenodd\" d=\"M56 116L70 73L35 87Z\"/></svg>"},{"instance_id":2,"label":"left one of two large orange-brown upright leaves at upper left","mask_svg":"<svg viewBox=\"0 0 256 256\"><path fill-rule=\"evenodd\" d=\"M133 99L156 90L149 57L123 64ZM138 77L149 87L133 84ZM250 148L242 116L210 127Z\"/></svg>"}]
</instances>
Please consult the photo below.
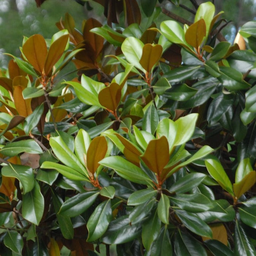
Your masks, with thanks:
<instances>
[{"instance_id":1,"label":"left one of two large orange-brown upright leaves at upper left","mask_svg":"<svg viewBox=\"0 0 256 256\"><path fill-rule=\"evenodd\" d=\"M42 73L47 55L46 42L43 36L39 34L30 36L22 46L22 52L35 70Z\"/></svg>"}]
</instances>

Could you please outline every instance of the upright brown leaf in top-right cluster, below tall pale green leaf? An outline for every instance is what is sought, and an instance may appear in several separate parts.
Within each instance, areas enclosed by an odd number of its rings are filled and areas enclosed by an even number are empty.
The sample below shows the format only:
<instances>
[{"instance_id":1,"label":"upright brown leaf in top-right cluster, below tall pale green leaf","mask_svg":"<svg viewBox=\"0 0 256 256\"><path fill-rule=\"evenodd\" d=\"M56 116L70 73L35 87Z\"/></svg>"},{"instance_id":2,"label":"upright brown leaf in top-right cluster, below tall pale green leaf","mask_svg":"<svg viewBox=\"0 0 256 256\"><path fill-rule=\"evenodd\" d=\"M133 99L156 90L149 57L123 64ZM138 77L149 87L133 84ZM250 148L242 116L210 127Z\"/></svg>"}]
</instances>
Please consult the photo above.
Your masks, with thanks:
<instances>
[{"instance_id":1,"label":"upright brown leaf in top-right cluster, below tall pale green leaf","mask_svg":"<svg viewBox=\"0 0 256 256\"><path fill-rule=\"evenodd\" d=\"M185 33L185 39L188 44L198 49L206 35L206 25L204 19L193 23L188 27Z\"/></svg>"}]
</instances>

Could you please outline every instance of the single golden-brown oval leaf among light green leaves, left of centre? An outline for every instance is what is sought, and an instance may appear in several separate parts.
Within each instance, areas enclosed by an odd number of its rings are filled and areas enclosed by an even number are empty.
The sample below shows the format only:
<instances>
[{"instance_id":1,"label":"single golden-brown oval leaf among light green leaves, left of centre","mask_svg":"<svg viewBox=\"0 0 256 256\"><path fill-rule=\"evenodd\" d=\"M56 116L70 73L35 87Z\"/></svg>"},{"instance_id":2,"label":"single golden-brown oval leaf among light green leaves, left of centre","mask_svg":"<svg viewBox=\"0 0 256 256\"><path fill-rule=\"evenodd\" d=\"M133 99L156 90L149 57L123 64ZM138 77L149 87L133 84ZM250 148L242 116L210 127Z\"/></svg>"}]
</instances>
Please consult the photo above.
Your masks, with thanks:
<instances>
[{"instance_id":1,"label":"single golden-brown oval leaf among light green leaves, left of centre","mask_svg":"<svg viewBox=\"0 0 256 256\"><path fill-rule=\"evenodd\" d=\"M88 171L94 174L100 166L99 161L104 158L107 152L107 141L105 137L95 137L86 153L86 165Z\"/></svg>"}]
</instances>

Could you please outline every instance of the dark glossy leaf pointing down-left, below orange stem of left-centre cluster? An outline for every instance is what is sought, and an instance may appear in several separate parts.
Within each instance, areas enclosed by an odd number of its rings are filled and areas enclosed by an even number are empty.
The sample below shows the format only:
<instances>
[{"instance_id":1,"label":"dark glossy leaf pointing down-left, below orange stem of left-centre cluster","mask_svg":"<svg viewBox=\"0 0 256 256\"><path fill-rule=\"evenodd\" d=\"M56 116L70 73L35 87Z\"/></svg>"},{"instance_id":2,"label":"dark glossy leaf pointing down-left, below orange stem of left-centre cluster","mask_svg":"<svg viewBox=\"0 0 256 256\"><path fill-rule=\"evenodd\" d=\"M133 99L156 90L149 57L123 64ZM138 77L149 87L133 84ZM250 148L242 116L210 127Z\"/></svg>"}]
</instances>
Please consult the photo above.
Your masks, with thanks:
<instances>
[{"instance_id":1,"label":"dark glossy leaf pointing down-left, below orange stem of left-centre cluster","mask_svg":"<svg viewBox=\"0 0 256 256\"><path fill-rule=\"evenodd\" d=\"M67 199L60 207L59 214L67 217L78 216L85 212L96 200L99 192L88 191Z\"/></svg>"}]
</instances>

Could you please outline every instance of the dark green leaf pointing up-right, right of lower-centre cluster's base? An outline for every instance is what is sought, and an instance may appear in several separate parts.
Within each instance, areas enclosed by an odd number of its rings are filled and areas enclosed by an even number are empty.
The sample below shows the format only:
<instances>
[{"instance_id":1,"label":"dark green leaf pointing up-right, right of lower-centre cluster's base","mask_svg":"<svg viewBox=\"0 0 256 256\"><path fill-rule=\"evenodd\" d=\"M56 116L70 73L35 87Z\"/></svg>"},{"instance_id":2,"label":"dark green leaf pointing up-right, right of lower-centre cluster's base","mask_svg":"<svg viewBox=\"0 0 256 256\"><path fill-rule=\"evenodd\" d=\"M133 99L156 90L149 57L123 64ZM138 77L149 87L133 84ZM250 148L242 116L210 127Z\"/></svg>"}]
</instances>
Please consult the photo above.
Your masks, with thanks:
<instances>
[{"instance_id":1,"label":"dark green leaf pointing up-right, right of lower-centre cluster's base","mask_svg":"<svg viewBox=\"0 0 256 256\"><path fill-rule=\"evenodd\" d=\"M176 193L185 193L201 184L206 175L199 172L193 172L187 174L177 180L170 188L169 191L175 191Z\"/></svg>"}]
</instances>

